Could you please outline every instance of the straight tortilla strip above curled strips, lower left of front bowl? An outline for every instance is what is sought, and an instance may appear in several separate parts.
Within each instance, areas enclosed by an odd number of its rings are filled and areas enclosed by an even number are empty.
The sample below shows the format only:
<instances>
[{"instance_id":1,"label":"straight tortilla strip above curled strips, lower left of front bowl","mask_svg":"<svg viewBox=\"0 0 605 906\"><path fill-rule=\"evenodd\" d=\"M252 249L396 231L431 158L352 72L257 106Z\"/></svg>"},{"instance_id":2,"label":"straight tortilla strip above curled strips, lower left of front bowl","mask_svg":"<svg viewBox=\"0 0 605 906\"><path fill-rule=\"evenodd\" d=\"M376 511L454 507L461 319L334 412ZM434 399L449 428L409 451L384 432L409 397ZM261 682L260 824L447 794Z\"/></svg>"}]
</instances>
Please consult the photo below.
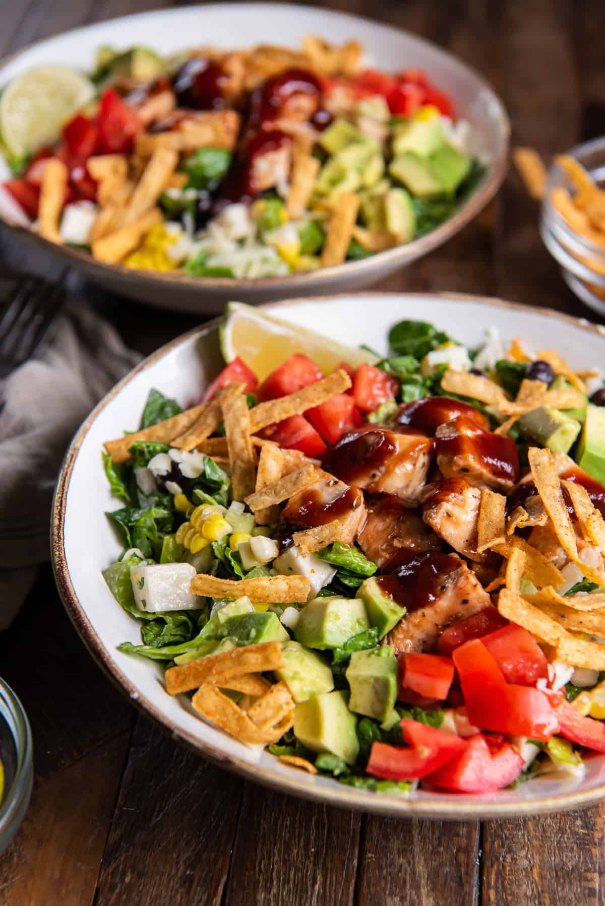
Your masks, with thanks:
<instances>
[{"instance_id":1,"label":"straight tortilla strip above curled strips, lower left of front bowl","mask_svg":"<svg viewBox=\"0 0 605 906\"><path fill-rule=\"evenodd\" d=\"M199 686L214 685L222 689L236 678L265 670L279 670L285 661L278 641L265 641L260 645L245 645L221 654L210 654L206 658L190 660L178 667L166 670L166 691L169 695L188 692Z\"/></svg>"}]
</instances>

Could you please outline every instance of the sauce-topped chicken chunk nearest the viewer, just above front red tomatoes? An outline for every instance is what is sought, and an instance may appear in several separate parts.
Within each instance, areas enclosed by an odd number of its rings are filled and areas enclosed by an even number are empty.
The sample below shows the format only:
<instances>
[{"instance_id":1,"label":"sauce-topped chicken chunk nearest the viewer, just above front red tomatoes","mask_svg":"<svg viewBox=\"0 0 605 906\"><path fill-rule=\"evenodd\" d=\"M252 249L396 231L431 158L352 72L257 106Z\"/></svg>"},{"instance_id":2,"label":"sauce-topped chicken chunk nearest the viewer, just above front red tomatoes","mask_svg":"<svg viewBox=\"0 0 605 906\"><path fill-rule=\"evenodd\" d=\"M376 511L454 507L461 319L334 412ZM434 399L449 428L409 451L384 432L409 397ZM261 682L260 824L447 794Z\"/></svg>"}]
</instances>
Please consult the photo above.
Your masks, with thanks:
<instances>
[{"instance_id":1,"label":"sauce-topped chicken chunk nearest the viewer, just above front red tomatoes","mask_svg":"<svg viewBox=\"0 0 605 906\"><path fill-rule=\"evenodd\" d=\"M492 603L457 554L408 554L395 573L379 576L376 582L407 608L407 615L387 636L396 654L431 651L447 626Z\"/></svg>"}]
</instances>

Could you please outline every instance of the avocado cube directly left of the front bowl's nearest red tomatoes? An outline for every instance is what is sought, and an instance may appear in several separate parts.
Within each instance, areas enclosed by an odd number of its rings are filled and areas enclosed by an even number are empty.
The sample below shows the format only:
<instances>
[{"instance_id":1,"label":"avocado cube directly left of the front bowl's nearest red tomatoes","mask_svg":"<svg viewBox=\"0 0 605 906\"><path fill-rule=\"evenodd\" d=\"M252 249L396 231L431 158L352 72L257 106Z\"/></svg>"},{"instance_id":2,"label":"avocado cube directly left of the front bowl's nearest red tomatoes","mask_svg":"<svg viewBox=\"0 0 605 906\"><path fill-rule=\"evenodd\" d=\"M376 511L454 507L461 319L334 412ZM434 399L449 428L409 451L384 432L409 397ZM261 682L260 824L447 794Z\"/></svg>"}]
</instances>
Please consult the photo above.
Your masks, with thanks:
<instances>
[{"instance_id":1,"label":"avocado cube directly left of the front bowl's nearest red tomatoes","mask_svg":"<svg viewBox=\"0 0 605 906\"><path fill-rule=\"evenodd\" d=\"M397 699L397 659L391 645L354 651L345 676L351 711L381 722L389 717Z\"/></svg>"}]
</instances>

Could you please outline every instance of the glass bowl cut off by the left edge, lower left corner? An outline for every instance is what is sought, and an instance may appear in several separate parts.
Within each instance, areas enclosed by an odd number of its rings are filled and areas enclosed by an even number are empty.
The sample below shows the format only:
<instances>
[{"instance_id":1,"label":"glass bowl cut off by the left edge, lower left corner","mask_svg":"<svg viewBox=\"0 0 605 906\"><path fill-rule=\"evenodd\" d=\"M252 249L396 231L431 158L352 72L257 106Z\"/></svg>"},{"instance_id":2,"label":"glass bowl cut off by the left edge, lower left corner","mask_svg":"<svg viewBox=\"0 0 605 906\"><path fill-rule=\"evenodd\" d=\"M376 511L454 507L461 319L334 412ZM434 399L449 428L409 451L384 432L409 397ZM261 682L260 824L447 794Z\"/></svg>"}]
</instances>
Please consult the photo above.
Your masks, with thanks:
<instances>
[{"instance_id":1,"label":"glass bowl cut off by the left edge, lower left corner","mask_svg":"<svg viewBox=\"0 0 605 906\"><path fill-rule=\"evenodd\" d=\"M15 692L0 679L0 760L5 788L0 799L0 854L13 838L29 805L34 780L32 731Z\"/></svg>"}]
</instances>

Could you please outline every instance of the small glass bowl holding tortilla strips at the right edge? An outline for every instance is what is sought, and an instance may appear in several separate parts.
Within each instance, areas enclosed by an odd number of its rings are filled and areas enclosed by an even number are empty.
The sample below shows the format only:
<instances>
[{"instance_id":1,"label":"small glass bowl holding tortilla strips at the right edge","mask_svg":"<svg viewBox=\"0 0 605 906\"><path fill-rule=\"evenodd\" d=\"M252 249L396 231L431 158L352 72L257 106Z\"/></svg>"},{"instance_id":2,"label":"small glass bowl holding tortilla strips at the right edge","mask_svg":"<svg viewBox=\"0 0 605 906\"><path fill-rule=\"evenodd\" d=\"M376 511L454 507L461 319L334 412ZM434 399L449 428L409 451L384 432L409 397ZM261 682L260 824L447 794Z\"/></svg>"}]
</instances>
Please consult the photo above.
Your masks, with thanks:
<instances>
[{"instance_id":1,"label":"small glass bowl holding tortilla strips at the right edge","mask_svg":"<svg viewBox=\"0 0 605 906\"><path fill-rule=\"evenodd\" d=\"M605 138L577 145L567 154L578 160L597 185L605 184ZM540 232L552 257L561 265L563 278L573 293L600 314L605 314L605 245L577 233L551 203L553 188L574 192L571 179L558 164L549 170L542 201Z\"/></svg>"}]
</instances>

